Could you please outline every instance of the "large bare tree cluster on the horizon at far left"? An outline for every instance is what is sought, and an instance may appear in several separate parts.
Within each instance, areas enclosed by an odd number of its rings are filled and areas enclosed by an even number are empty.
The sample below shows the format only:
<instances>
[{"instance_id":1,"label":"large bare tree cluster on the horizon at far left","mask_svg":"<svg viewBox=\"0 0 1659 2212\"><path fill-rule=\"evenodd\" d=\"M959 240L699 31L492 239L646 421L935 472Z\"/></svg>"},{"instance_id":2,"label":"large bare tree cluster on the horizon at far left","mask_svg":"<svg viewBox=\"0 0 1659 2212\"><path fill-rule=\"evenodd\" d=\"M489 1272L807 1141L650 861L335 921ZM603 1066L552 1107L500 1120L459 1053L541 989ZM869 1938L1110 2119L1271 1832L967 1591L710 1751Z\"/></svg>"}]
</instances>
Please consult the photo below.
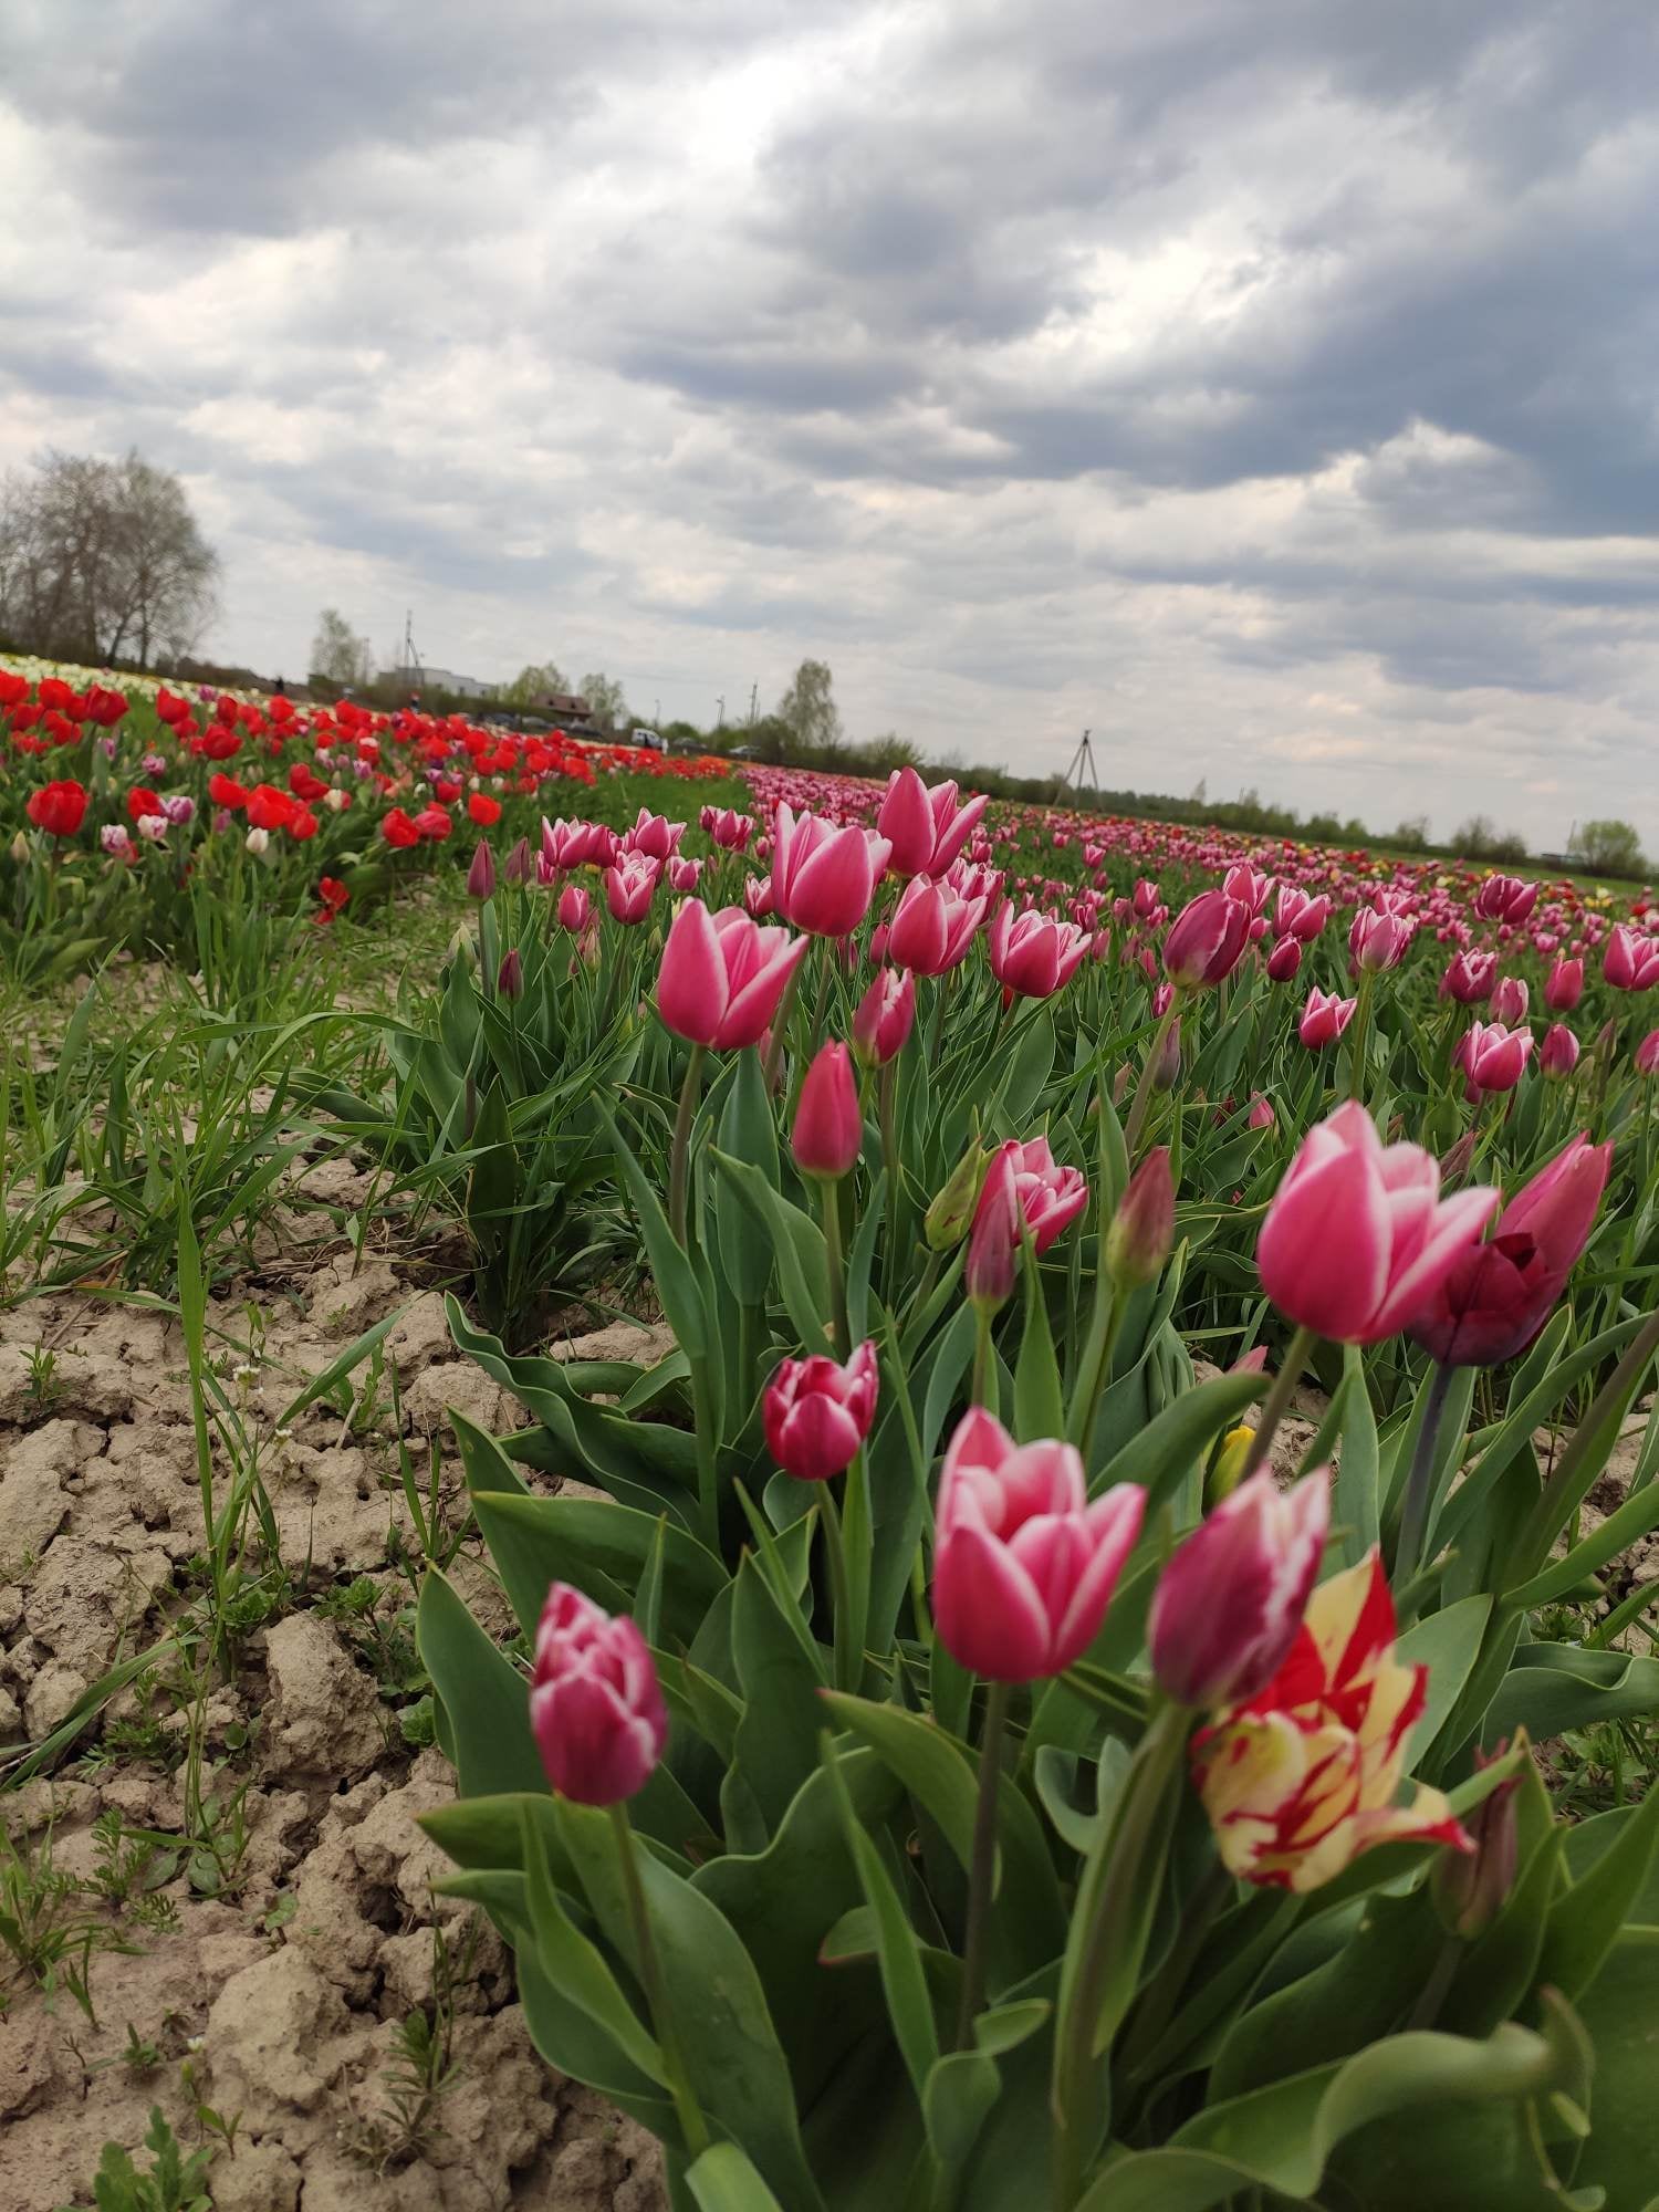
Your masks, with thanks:
<instances>
[{"instance_id":1,"label":"large bare tree cluster on the horizon at far left","mask_svg":"<svg viewBox=\"0 0 1659 2212\"><path fill-rule=\"evenodd\" d=\"M217 575L184 484L137 451L49 451L0 493L0 624L38 653L139 668L188 653Z\"/></svg>"}]
</instances>

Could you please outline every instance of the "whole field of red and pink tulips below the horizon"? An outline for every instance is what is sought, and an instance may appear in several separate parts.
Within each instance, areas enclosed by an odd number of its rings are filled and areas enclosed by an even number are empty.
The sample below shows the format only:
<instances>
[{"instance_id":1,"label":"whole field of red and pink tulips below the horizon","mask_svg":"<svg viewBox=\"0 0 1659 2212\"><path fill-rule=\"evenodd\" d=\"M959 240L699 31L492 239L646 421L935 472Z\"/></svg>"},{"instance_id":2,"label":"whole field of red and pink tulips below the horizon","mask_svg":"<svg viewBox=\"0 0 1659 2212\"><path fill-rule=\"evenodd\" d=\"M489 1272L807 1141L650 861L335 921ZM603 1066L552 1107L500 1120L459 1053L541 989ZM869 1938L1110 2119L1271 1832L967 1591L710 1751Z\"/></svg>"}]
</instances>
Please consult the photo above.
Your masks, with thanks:
<instances>
[{"instance_id":1,"label":"whole field of red and pink tulips below the horizon","mask_svg":"<svg viewBox=\"0 0 1659 2212\"><path fill-rule=\"evenodd\" d=\"M1646 894L0 666L0 2205L1659 2205Z\"/></svg>"}]
</instances>

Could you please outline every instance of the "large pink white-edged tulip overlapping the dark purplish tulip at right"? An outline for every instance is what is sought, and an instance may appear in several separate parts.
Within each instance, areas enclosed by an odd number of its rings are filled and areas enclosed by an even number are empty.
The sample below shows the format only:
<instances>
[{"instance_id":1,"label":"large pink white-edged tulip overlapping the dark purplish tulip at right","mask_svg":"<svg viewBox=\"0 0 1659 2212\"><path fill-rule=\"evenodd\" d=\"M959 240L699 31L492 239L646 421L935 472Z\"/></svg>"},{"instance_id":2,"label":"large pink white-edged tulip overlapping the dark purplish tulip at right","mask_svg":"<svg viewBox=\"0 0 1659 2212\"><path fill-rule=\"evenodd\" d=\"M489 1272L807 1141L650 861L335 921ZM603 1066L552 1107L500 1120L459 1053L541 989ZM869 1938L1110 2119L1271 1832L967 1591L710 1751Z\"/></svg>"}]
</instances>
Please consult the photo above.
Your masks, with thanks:
<instances>
[{"instance_id":1,"label":"large pink white-edged tulip overlapping the dark purplish tulip at right","mask_svg":"<svg viewBox=\"0 0 1659 2212\"><path fill-rule=\"evenodd\" d=\"M1303 1327L1376 1345L1431 1303L1495 1203L1482 1186L1442 1199L1433 1157L1385 1146L1349 1099L1303 1137L1274 1192L1256 1243L1261 1287Z\"/></svg>"}]
</instances>

